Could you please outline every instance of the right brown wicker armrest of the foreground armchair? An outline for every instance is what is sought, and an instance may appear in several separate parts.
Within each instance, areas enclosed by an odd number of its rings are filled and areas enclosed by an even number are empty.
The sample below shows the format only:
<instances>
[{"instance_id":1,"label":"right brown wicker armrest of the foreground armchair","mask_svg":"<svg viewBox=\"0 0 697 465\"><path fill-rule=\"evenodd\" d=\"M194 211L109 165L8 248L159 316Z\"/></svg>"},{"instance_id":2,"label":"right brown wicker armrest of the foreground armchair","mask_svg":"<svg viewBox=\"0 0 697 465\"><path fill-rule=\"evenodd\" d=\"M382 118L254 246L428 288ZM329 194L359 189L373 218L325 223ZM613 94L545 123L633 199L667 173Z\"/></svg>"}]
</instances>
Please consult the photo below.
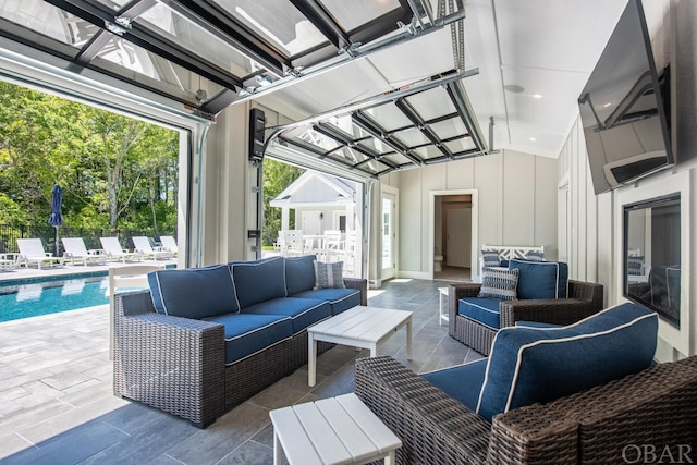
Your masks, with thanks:
<instances>
[{"instance_id":1,"label":"right brown wicker armrest of the foreground armchair","mask_svg":"<svg viewBox=\"0 0 697 465\"><path fill-rule=\"evenodd\" d=\"M697 443L696 417L693 356L496 416L490 462L512 453L526 464L644 462L637 454L645 445L676 457Z\"/></svg>"}]
</instances>

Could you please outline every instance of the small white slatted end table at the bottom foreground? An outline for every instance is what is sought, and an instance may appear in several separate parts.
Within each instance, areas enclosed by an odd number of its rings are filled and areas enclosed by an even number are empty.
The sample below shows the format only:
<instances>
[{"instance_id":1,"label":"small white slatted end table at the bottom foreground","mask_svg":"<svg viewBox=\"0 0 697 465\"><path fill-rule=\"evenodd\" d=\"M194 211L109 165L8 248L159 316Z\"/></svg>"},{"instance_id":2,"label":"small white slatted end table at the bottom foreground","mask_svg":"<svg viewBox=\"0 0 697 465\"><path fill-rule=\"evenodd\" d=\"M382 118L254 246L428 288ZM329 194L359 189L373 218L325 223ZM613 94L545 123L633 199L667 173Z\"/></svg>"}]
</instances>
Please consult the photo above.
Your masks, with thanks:
<instances>
[{"instance_id":1,"label":"small white slatted end table at the bottom foreground","mask_svg":"<svg viewBox=\"0 0 697 465\"><path fill-rule=\"evenodd\" d=\"M394 464L402 441L356 394L283 407L269 413L273 424L273 464Z\"/></svg>"}]
</instances>

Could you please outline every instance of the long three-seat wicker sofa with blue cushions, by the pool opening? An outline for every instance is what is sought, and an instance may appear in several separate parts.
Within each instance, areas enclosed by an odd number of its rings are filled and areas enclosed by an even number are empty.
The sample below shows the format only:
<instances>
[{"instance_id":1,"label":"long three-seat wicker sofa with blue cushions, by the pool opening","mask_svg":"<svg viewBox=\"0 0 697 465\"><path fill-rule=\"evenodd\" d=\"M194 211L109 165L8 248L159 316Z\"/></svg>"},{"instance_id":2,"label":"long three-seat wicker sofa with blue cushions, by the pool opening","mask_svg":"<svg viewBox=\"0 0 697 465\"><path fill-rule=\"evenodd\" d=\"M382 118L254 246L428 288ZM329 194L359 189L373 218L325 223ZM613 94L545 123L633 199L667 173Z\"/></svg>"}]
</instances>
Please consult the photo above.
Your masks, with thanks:
<instances>
[{"instance_id":1,"label":"long three-seat wicker sofa with blue cushions, by the pool opening","mask_svg":"<svg viewBox=\"0 0 697 465\"><path fill-rule=\"evenodd\" d=\"M163 270L148 274L149 291L117 294L114 393L205 428L307 364L307 327L367 302L365 279L314 289L314 265Z\"/></svg>"}]
</instances>

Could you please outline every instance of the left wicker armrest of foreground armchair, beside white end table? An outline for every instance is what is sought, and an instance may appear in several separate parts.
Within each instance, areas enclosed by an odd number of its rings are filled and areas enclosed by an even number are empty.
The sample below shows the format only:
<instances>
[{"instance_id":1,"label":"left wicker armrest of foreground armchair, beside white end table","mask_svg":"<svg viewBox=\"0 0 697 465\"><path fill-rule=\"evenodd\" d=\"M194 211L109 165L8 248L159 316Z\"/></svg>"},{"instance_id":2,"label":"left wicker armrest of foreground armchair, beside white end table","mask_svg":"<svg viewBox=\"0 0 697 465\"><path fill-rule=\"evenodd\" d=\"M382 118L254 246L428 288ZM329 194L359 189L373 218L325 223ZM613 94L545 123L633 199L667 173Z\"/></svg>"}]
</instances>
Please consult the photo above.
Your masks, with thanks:
<instances>
[{"instance_id":1,"label":"left wicker armrest of foreground armchair, beside white end table","mask_svg":"<svg viewBox=\"0 0 697 465\"><path fill-rule=\"evenodd\" d=\"M396 360L357 359L356 394L402 440L396 463L486 461L491 425Z\"/></svg>"}]
</instances>

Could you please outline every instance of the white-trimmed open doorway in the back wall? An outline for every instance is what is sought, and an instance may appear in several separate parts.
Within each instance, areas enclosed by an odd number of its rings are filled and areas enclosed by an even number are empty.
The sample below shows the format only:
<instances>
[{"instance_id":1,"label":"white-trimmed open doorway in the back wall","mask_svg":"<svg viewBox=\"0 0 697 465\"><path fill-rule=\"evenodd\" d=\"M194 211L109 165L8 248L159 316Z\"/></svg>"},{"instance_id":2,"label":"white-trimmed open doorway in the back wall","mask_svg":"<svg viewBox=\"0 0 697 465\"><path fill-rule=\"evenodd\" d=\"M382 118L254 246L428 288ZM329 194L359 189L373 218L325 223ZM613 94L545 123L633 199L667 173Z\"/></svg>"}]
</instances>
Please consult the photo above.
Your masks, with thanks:
<instances>
[{"instance_id":1,"label":"white-trimmed open doorway in the back wall","mask_svg":"<svg viewBox=\"0 0 697 465\"><path fill-rule=\"evenodd\" d=\"M477 260L476 191L435 192L431 196L431 277L470 281Z\"/></svg>"}]
</instances>

